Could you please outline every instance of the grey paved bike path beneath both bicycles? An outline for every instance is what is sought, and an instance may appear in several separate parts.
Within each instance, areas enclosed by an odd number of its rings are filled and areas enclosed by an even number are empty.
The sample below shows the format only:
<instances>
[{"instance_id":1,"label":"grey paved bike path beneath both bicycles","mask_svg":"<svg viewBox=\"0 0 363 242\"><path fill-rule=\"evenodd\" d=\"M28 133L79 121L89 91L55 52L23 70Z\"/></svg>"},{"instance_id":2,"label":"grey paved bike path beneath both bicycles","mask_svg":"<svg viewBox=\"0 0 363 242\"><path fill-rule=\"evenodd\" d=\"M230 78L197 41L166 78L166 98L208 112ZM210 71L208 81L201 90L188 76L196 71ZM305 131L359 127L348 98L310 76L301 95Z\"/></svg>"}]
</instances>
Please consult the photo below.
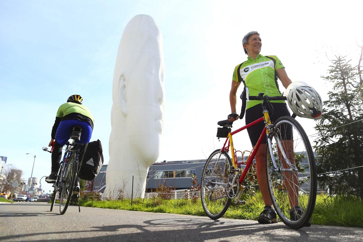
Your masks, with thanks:
<instances>
[{"instance_id":1,"label":"grey paved bike path beneath both bicycles","mask_svg":"<svg viewBox=\"0 0 363 242\"><path fill-rule=\"evenodd\" d=\"M71 206L64 215L47 203L0 204L0 241L363 241L363 229Z\"/></svg>"}]
</instances>

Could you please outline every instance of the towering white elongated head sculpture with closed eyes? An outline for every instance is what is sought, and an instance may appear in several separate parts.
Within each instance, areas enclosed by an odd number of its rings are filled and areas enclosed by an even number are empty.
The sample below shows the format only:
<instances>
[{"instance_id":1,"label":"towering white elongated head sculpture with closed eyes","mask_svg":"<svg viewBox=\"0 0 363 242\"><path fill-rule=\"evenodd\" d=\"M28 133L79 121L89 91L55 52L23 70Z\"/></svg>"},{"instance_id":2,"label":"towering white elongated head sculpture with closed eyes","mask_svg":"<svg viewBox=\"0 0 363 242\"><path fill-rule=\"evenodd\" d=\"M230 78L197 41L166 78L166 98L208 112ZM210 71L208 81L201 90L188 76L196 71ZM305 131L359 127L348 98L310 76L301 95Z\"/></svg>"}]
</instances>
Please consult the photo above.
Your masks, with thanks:
<instances>
[{"instance_id":1,"label":"towering white elongated head sculpture with closed eyes","mask_svg":"<svg viewBox=\"0 0 363 242\"><path fill-rule=\"evenodd\" d=\"M136 15L126 25L118 48L111 109L110 161L103 197L115 199L119 190L143 197L148 169L159 157L163 132L163 40L155 20Z\"/></svg>"}]
</instances>

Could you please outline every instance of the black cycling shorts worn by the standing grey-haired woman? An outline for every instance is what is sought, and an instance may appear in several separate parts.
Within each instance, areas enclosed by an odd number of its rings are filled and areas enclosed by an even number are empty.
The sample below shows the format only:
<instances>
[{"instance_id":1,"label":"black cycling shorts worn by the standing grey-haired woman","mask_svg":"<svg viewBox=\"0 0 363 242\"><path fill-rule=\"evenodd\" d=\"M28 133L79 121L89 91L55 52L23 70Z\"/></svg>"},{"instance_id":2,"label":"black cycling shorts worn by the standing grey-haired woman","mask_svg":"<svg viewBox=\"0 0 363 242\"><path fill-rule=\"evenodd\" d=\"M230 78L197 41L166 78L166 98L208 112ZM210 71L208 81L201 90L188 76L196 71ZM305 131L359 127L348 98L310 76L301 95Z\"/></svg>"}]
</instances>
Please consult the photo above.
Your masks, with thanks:
<instances>
[{"instance_id":1,"label":"black cycling shorts worn by the standing grey-haired woman","mask_svg":"<svg viewBox=\"0 0 363 242\"><path fill-rule=\"evenodd\" d=\"M284 103L277 103L277 102L270 102L269 104L266 104L266 108L269 112L270 119L272 123L274 123L278 118L282 116L291 116L289 110L287 109L286 104ZM253 106L252 108L246 109L246 124L249 124L263 116L262 112L262 105L257 104ZM247 128L248 136L250 137L250 141L252 146L255 146L257 144L258 138L260 138L260 135L262 133L262 130L265 127L264 121L258 122L257 124L250 126ZM281 136L284 137L284 140L292 140L292 129L291 126L287 130L281 130ZM266 136L264 140L262 141L262 144L266 144Z\"/></svg>"}]
</instances>

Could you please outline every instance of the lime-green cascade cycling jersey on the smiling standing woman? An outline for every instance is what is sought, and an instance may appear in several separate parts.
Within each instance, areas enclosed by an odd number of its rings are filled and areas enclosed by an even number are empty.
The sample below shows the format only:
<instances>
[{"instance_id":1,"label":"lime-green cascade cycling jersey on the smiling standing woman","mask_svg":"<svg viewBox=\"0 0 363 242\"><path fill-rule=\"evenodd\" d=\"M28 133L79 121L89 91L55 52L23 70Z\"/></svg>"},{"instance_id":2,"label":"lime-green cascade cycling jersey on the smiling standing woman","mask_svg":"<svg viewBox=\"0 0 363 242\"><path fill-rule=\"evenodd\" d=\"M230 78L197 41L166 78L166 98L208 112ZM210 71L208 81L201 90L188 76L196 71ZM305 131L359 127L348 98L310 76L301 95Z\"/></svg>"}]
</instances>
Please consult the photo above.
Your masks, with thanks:
<instances>
[{"instance_id":1,"label":"lime-green cascade cycling jersey on the smiling standing woman","mask_svg":"<svg viewBox=\"0 0 363 242\"><path fill-rule=\"evenodd\" d=\"M282 96L277 83L276 70L285 68L277 56L258 55L256 60L248 57L245 62L234 68L232 80L244 82L248 87L250 96L258 96L263 92L268 96ZM285 101L271 101L285 103ZM262 103L259 100L247 102L246 109Z\"/></svg>"}]
</instances>

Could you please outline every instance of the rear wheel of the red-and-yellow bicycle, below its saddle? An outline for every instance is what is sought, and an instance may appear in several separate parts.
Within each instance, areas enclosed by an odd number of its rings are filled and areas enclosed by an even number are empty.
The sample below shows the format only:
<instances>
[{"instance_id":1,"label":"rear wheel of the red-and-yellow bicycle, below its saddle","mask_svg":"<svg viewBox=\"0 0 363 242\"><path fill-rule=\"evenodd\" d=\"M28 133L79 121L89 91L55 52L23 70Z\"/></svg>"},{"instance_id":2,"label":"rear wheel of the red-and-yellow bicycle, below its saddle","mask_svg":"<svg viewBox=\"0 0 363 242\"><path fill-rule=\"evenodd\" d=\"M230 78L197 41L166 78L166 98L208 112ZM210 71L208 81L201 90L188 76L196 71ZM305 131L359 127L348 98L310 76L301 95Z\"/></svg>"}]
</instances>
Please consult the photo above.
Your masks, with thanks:
<instances>
[{"instance_id":1,"label":"rear wheel of the red-and-yellow bicycle, below its saddle","mask_svg":"<svg viewBox=\"0 0 363 242\"><path fill-rule=\"evenodd\" d=\"M220 156L219 156L220 155ZM220 164L221 166L219 167L219 165L217 166L217 164L214 165L214 169L213 169L213 165L211 165L211 161L215 156L219 156L219 158L221 158L221 156L224 156L225 159L221 160ZM220 159L217 159L217 162L219 162ZM228 164L227 166L223 166L224 164ZM219 180L219 182L222 181L226 181L228 182L228 177L229 177L229 168L231 168L232 165L232 160L229 157L228 153L223 150L223 152L221 152L220 149L217 149L215 151L212 152L212 154L209 156L207 162L205 162L204 165L204 169L203 169L203 174L202 174L202 178L201 178L201 182L200 182L200 196L201 196L201 202L203 205L203 209L205 214L211 218L211 219L219 219L220 217L222 217L224 215L224 213L227 211L229 204L231 203L231 198L228 197L227 195L227 191L226 191L226 187L224 189L220 189L221 185L217 188L217 190L213 191L213 188L217 187L216 184L211 184L211 180L215 179L215 180ZM217 170L216 170L217 168ZM210 171L212 169L212 171ZM207 174L211 173L211 176L208 178ZM213 174L215 174L216 177L213 177ZM212 190L212 191L211 191ZM215 196L215 197L213 197ZM217 196L217 198L216 198ZM218 198L218 196L220 196L220 198ZM213 198L212 198L213 197ZM212 199L212 200L211 200ZM223 204L212 204L211 201L216 201L216 202L220 202L222 201ZM209 206L211 205L211 206Z\"/></svg>"}]
</instances>

